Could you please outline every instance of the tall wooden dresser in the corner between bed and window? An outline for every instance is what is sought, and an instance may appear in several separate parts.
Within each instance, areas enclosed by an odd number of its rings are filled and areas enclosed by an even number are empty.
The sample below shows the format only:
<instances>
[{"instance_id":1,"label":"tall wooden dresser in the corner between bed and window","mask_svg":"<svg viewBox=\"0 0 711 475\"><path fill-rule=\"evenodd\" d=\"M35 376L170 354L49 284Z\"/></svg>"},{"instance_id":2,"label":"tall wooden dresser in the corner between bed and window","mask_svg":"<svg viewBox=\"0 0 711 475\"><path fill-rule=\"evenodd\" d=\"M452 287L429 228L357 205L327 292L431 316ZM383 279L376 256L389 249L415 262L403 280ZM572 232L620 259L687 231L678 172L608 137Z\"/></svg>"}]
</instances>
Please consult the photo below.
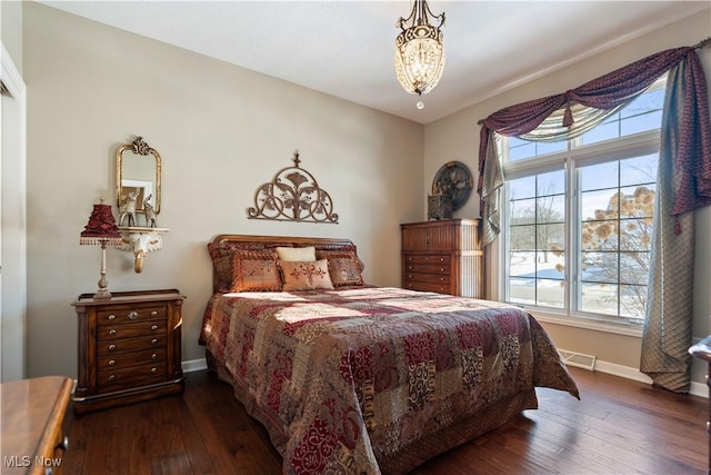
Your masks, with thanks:
<instances>
[{"instance_id":1,"label":"tall wooden dresser in the corner between bed and window","mask_svg":"<svg viewBox=\"0 0 711 475\"><path fill-rule=\"evenodd\" d=\"M402 287L484 298L480 219L400 225Z\"/></svg>"}]
</instances>

